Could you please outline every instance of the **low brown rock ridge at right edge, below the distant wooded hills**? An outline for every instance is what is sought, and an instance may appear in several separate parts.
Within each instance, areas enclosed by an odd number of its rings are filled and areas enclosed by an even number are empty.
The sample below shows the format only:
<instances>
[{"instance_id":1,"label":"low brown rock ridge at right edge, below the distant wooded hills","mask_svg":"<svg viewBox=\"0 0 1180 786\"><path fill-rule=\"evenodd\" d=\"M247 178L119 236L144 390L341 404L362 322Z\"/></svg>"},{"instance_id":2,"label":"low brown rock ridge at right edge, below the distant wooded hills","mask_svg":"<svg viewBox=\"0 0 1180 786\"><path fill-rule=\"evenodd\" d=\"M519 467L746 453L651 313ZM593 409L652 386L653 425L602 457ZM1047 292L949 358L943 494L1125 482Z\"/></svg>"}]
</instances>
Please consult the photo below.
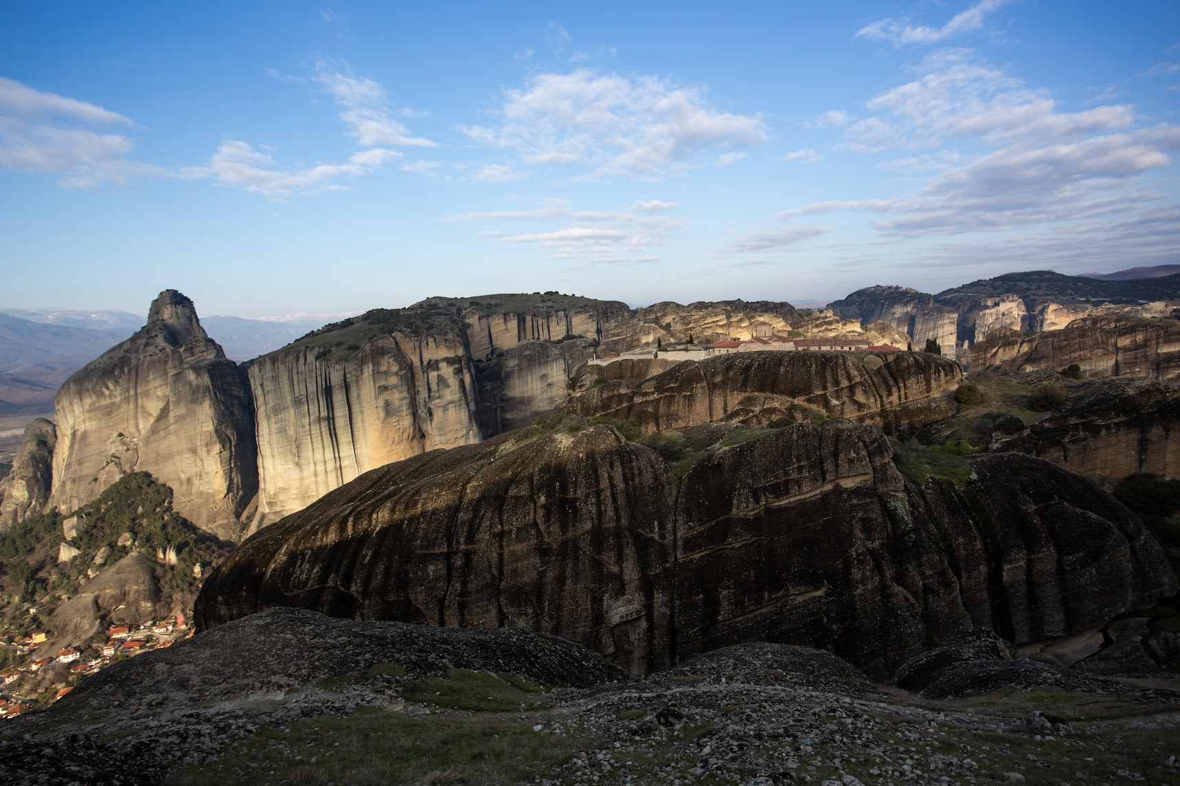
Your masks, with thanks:
<instances>
[{"instance_id":1,"label":"low brown rock ridge at right edge, below the distant wooded hills","mask_svg":"<svg viewBox=\"0 0 1180 786\"><path fill-rule=\"evenodd\" d=\"M1180 321L1088 316L1061 330L1001 330L971 347L971 371L1061 371L1089 376L1180 376Z\"/></svg>"}]
</instances>

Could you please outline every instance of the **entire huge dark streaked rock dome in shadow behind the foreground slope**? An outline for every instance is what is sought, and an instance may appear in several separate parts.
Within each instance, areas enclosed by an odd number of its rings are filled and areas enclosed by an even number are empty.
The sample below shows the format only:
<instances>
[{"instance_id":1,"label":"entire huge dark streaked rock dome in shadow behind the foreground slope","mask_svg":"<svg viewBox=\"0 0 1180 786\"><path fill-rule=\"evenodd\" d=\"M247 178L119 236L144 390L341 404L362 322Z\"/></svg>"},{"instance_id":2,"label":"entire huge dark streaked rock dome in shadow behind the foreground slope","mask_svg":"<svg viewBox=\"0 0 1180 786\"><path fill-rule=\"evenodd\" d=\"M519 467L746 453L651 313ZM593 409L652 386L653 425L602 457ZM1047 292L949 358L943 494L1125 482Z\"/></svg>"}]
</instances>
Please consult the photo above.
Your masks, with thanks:
<instances>
[{"instance_id":1,"label":"entire huge dark streaked rock dome in shadow behind the foreground slope","mask_svg":"<svg viewBox=\"0 0 1180 786\"><path fill-rule=\"evenodd\" d=\"M963 490L918 489L890 459L847 421L715 451L682 480L607 426L505 434L374 470L261 531L196 616L520 627L632 674L772 641L884 677L929 636L1040 641L1175 591L1139 519L1089 480L1012 453L974 459Z\"/></svg>"}]
</instances>

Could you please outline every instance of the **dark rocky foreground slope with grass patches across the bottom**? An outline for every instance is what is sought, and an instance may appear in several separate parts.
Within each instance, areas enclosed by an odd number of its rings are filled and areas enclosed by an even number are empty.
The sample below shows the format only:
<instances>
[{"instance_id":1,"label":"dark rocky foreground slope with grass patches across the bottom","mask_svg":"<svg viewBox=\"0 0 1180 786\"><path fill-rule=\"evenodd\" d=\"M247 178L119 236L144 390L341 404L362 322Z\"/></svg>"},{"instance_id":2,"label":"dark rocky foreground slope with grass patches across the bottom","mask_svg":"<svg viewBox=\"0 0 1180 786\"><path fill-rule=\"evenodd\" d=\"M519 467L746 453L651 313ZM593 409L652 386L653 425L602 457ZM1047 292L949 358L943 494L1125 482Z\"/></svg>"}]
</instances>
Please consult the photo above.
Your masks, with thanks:
<instances>
[{"instance_id":1,"label":"dark rocky foreground slope with grass patches across the bottom","mask_svg":"<svg viewBox=\"0 0 1180 786\"><path fill-rule=\"evenodd\" d=\"M9 784L1180 784L1180 680L949 642L876 685L739 644L642 680L522 630L271 609L0 728ZM918 686L922 686L920 689Z\"/></svg>"}]
</instances>

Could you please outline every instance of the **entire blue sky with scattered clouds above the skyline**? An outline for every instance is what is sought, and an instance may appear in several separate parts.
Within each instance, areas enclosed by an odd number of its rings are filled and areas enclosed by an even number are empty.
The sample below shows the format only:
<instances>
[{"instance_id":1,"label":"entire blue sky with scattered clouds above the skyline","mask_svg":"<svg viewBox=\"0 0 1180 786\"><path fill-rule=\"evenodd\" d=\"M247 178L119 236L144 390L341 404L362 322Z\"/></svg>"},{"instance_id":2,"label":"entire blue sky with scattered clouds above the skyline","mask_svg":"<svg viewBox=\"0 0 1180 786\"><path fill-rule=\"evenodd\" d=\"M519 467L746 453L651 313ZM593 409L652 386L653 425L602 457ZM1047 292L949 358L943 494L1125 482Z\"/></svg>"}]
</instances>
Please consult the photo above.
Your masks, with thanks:
<instances>
[{"instance_id":1,"label":"entire blue sky with scattered clouds above the skyline","mask_svg":"<svg viewBox=\"0 0 1180 786\"><path fill-rule=\"evenodd\" d=\"M1180 262L1175 0L0 7L0 307Z\"/></svg>"}]
</instances>

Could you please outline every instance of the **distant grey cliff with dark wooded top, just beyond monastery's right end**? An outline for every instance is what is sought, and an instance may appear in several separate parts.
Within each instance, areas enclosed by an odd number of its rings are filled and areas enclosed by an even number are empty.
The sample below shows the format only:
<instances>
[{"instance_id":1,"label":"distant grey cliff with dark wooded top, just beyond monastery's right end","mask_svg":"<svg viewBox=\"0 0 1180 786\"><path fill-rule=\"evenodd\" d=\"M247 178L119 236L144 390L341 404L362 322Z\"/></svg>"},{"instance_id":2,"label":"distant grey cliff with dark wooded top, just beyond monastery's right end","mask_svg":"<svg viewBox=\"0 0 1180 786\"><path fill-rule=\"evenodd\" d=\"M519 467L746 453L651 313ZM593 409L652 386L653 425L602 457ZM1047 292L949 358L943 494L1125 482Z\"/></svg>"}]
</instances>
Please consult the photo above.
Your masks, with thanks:
<instances>
[{"instance_id":1,"label":"distant grey cliff with dark wooded top, just beyond monastery's right end","mask_svg":"<svg viewBox=\"0 0 1180 786\"><path fill-rule=\"evenodd\" d=\"M907 334L917 348L933 339L943 354L955 353L958 312L935 302L933 295L905 287L866 287L827 306L840 319L861 325L886 322Z\"/></svg>"}]
</instances>

